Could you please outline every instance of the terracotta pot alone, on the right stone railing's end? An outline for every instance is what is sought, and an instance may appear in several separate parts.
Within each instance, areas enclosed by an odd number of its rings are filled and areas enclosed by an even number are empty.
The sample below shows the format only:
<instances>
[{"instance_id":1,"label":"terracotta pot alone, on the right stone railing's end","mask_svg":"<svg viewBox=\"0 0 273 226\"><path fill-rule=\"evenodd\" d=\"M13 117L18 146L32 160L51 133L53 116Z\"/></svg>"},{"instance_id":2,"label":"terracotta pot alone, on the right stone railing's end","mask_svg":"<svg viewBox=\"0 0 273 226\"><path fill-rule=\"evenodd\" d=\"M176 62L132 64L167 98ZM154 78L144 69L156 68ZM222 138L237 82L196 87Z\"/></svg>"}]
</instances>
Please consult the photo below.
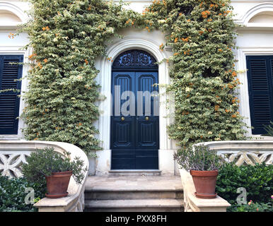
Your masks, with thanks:
<instances>
[{"instance_id":1,"label":"terracotta pot alone, on the right stone railing's end","mask_svg":"<svg viewBox=\"0 0 273 226\"><path fill-rule=\"evenodd\" d=\"M196 189L195 196L197 198L216 198L215 193L217 170L213 171L197 171L190 170L192 180Z\"/></svg>"}]
</instances>

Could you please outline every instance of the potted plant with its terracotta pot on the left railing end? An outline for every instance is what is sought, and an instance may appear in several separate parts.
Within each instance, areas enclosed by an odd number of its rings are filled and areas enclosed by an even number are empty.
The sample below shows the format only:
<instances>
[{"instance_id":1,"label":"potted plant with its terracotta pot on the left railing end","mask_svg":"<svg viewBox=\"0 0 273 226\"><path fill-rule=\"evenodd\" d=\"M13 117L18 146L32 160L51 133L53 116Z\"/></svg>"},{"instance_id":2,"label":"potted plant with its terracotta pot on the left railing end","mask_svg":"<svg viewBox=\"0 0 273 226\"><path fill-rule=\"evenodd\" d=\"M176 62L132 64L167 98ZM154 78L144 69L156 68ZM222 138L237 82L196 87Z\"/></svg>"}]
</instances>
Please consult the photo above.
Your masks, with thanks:
<instances>
[{"instance_id":1,"label":"potted plant with its terracotta pot on the left railing end","mask_svg":"<svg viewBox=\"0 0 273 226\"><path fill-rule=\"evenodd\" d=\"M84 179L83 160L69 158L70 153L57 153L54 148L37 149L22 165L23 175L32 182L47 184L47 198L61 198L68 195L70 177L77 184Z\"/></svg>"}]
</instances>

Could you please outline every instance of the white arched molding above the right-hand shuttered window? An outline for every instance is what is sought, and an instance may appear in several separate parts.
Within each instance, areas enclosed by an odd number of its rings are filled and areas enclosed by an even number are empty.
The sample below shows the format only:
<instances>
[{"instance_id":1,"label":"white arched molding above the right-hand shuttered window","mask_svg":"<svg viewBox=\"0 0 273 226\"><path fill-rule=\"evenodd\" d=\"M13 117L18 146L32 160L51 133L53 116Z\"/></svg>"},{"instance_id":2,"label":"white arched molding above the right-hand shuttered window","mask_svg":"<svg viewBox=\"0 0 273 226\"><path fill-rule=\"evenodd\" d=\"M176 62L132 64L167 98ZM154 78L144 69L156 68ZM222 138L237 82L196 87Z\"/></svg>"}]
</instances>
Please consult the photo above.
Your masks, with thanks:
<instances>
[{"instance_id":1,"label":"white arched molding above the right-hand shuttered window","mask_svg":"<svg viewBox=\"0 0 273 226\"><path fill-rule=\"evenodd\" d=\"M245 27L250 28L262 28L262 27L269 27L271 28L273 24L267 24L267 23L249 23L250 19L257 16L257 14L262 12L273 12L273 3L272 2L265 2L261 4L257 4L256 6L250 8L245 15L240 18L239 20L236 20L236 23L239 23L241 25L245 25Z\"/></svg>"}]
</instances>

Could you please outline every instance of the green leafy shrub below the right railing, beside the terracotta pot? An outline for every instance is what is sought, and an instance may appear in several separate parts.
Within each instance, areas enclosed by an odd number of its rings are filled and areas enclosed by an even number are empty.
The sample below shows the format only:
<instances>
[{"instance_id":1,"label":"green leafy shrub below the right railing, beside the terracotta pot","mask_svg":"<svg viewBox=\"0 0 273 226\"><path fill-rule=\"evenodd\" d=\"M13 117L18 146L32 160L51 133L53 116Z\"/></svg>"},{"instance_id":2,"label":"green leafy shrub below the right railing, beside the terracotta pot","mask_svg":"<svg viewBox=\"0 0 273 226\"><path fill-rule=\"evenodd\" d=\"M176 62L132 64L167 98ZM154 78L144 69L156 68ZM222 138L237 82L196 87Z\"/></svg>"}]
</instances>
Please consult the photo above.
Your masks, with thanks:
<instances>
[{"instance_id":1,"label":"green leafy shrub below the right railing, beside the terracotta pot","mask_svg":"<svg viewBox=\"0 0 273 226\"><path fill-rule=\"evenodd\" d=\"M237 189L243 187L247 191L247 200L257 203L271 202L273 187L273 165L225 164L219 170L216 191L228 203L236 204Z\"/></svg>"}]
</instances>

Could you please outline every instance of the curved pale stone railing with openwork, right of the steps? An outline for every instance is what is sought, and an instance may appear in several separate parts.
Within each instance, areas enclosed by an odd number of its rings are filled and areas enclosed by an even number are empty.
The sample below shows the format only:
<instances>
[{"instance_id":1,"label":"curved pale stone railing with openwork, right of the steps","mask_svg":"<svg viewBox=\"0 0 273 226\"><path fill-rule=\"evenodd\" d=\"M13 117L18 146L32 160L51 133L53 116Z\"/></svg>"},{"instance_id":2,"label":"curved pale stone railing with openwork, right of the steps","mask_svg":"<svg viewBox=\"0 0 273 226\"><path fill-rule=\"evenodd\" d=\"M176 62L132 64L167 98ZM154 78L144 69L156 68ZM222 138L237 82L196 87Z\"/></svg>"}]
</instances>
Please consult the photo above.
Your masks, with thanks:
<instances>
[{"instance_id":1,"label":"curved pale stone railing with openwork, right of the steps","mask_svg":"<svg viewBox=\"0 0 273 226\"><path fill-rule=\"evenodd\" d=\"M228 162L236 165L255 165L265 162L272 164L273 141L215 141L198 143L209 146L216 150ZM231 206L226 200L217 196L213 199L203 199L194 196L195 187L190 172L180 169L180 177L184 191L185 212L226 212Z\"/></svg>"}]
</instances>

